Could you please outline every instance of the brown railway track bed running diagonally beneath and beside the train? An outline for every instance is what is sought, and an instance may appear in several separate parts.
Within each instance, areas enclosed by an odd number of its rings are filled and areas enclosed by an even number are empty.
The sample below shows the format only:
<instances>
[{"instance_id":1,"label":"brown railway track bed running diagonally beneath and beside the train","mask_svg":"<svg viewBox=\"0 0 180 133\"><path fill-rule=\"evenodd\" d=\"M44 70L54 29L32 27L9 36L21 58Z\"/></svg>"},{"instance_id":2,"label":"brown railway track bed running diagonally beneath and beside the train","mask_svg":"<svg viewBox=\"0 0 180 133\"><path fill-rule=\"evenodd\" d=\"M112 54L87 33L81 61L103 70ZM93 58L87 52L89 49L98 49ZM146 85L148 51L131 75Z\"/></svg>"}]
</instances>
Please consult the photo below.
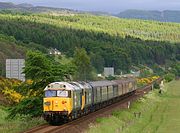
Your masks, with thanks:
<instances>
[{"instance_id":1,"label":"brown railway track bed running diagonally beneath and beside the train","mask_svg":"<svg viewBox=\"0 0 180 133\"><path fill-rule=\"evenodd\" d=\"M84 132L90 123L95 122L97 117L108 117L111 115L112 110L127 108L129 102L133 102L138 98L142 97L144 94L152 90L151 85L147 85L144 88L136 90L134 95L125 96L121 101L111 104L105 108L97 110L86 116L82 116L76 120L65 123L59 126L51 126L48 124L35 127L24 133L79 133Z\"/></svg>"}]
</instances>

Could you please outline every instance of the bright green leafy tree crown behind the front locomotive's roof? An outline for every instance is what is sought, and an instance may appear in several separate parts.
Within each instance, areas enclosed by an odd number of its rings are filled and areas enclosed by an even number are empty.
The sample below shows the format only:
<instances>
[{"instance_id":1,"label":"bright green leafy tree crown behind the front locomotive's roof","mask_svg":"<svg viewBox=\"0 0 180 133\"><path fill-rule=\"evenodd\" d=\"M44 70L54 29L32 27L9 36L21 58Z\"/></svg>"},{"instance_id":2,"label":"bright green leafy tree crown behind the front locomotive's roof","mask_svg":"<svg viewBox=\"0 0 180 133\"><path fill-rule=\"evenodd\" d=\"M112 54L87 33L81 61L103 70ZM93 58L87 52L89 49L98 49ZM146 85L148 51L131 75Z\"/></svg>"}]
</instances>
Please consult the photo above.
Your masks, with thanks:
<instances>
[{"instance_id":1,"label":"bright green leafy tree crown behind the front locomotive's roof","mask_svg":"<svg viewBox=\"0 0 180 133\"><path fill-rule=\"evenodd\" d=\"M48 55L49 56L49 55ZM61 64L52 57L41 52L29 51L27 53L24 73L27 79L35 82L63 81L74 74L74 67Z\"/></svg>"}]
</instances>

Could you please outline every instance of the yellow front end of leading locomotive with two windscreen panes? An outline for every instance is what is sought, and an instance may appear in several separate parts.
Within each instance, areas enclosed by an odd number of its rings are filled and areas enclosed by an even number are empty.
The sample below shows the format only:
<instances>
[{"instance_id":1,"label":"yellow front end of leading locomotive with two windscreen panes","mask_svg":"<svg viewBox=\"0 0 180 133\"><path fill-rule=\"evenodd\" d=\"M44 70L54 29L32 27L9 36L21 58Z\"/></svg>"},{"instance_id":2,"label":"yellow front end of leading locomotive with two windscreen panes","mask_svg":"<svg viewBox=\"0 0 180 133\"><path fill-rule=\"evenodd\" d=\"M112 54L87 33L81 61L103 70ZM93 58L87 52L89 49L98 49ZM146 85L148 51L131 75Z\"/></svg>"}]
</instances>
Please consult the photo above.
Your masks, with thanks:
<instances>
[{"instance_id":1,"label":"yellow front end of leading locomotive with two windscreen panes","mask_svg":"<svg viewBox=\"0 0 180 133\"><path fill-rule=\"evenodd\" d=\"M68 119L73 107L72 92L68 85L55 82L49 84L44 91L44 119L49 123L57 123Z\"/></svg>"}]
</instances>

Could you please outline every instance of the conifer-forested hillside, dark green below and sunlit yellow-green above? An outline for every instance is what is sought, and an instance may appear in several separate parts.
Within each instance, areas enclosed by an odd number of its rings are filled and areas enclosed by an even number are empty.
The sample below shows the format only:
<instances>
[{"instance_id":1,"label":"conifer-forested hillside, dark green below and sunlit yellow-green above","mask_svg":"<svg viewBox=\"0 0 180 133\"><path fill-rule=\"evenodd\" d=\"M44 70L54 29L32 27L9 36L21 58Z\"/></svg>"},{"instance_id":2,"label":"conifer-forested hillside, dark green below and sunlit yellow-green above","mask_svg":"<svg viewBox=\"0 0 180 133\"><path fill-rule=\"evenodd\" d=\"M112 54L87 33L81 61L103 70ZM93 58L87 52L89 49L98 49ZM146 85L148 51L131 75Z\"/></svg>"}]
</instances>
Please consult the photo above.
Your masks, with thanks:
<instances>
[{"instance_id":1,"label":"conifer-forested hillside, dark green below and sunlit yellow-green above","mask_svg":"<svg viewBox=\"0 0 180 133\"><path fill-rule=\"evenodd\" d=\"M120 74L129 72L133 65L165 66L180 58L180 25L176 23L1 11L0 34L7 38L1 43L9 41L17 44L17 49L23 46L45 54L47 48L57 48L73 57L76 48L84 48L98 73L104 66L114 67ZM1 57L4 54L8 53L2 52Z\"/></svg>"}]
</instances>

